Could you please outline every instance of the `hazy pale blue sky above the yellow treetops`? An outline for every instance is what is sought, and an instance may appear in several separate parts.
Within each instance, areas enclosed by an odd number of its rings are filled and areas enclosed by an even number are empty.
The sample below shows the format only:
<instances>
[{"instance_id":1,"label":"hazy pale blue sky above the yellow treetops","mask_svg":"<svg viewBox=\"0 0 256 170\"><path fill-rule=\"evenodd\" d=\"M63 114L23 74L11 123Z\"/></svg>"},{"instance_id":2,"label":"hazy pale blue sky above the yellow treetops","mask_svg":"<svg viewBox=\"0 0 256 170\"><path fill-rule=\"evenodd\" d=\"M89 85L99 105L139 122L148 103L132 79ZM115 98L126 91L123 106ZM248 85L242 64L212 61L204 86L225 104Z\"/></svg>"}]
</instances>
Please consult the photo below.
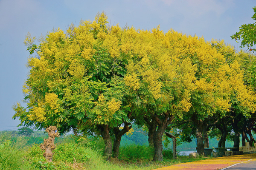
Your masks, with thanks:
<instances>
[{"instance_id":1,"label":"hazy pale blue sky above the yellow treetops","mask_svg":"<svg viewBox=\"0 0 256 170\"><path fill-rule=\"evenodd\" d=\"M80 20L93 21L105 11L111 25L151 30L160 25L183 34L224 40L240 49L230 36L243 24L254 23L255 0L0 0L0 131L17 130L12 105L22 103L23 83L29 73L26 34L46 35L53 28L66 30Z\"/></svg>"}]
</instances>

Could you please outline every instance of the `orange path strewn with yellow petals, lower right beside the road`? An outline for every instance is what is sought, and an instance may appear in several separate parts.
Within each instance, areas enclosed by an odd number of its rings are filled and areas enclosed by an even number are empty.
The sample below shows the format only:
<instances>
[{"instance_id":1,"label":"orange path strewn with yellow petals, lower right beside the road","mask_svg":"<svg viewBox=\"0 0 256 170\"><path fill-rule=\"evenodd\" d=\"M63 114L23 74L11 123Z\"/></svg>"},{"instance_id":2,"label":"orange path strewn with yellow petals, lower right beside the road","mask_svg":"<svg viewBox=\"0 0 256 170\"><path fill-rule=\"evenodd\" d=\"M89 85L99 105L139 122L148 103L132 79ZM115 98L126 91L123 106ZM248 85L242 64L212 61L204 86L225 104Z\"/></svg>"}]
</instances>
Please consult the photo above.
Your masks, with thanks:
<instances>
[{"instance_id":1,"label":"orange path strewn with yellow petals, lower right beside the road","mask_svg":"<svg viewBox=\"0 0 256 170\"><path fill-rule=\"evenodd\" d=\"M239 164L249 160L256 161L256 153L248 155L225 156L220 158L206 159L203 161L186 162L182 164L175 164L169 167L158 168L156 170L221 170L233 164Z\"/></svg>"}]
</instances>

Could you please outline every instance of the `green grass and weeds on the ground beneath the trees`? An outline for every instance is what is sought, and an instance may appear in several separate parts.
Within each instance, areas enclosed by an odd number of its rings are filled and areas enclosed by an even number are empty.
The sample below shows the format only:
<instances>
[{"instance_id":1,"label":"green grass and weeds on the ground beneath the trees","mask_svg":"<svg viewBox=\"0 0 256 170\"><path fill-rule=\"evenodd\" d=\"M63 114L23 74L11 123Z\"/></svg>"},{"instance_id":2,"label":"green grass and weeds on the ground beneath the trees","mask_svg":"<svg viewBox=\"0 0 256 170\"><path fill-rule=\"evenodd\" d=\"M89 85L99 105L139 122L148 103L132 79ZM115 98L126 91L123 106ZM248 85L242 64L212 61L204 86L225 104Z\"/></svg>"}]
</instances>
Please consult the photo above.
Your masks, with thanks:
<instances>
[{"instance_id":1,"label":"green grass and weeds on the ground beneath the trees","mask_svg":"<svg viewBox=\"0 0 256 170\"><path fill-rule=\"evenodd\" d=\"M101 138L62 136L55 139L53 162L47 163L39 144L44 135L17 136L0 133L0 170L151 170L172 164L208 158L189 159L179 155L172 159L172 150L163 151L163 161L152 162L154 148L140 145L120 147L119 159L105 161Z\"/></svg>"}]
</instances>

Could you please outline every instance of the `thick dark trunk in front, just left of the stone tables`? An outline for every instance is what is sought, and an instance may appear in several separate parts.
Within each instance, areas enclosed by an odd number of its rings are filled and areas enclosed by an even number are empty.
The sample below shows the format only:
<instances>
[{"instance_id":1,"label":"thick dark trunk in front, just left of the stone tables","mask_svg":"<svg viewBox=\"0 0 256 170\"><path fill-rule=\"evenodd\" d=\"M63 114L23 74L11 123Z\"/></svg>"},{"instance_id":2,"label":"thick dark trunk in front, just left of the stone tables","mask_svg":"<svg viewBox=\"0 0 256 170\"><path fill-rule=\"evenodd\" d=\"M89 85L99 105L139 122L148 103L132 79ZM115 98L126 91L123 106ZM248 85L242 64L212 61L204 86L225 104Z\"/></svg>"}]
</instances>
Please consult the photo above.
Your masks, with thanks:
<instances>
[{"instance_id":1,"label":"thick dark trunk in front, just left of the stone tables","mask_svg":"<svg viewBox=\"0 0 256 170\"><path fill-rule=\"evenodd\" d=\"M196 125L196 151L199 155L204 155L204 137L203 137L203 122L195 121Z\"/></svg>"}]
</instances>

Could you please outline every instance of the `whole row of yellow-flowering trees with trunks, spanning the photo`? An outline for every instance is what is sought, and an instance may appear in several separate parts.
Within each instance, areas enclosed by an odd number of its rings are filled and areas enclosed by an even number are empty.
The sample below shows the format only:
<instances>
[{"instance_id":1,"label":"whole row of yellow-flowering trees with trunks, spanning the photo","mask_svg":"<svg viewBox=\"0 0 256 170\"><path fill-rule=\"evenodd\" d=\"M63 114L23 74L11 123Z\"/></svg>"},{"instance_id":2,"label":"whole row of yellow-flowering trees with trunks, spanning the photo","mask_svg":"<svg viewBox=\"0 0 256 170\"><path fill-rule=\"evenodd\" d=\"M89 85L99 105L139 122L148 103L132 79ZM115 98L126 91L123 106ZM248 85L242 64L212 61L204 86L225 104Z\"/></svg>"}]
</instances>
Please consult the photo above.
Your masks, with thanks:
<instances>
[{"instance_id":1,"label":"whole row of yellow-flowering trees with trunks, spanning the photo","mask_svg":"<svg viewBox=\"0 0 256 170\"><path fill-rule=\"evenodd\" d=\"M101 135L109 160L118 157L134 122L147 127L153 160L162 161L163 133L171 127L184 138L195 129L202 154L210 127L253 116L256 74L247 71L254 71L254 56L159 26L149 31L107 24L102 12L93 22L71 24L66 33L49 32L39 45L26 36L35 57L28 59L23 86L27 107L14 105L20 125Z\"/></svg>"}]
</instances>

